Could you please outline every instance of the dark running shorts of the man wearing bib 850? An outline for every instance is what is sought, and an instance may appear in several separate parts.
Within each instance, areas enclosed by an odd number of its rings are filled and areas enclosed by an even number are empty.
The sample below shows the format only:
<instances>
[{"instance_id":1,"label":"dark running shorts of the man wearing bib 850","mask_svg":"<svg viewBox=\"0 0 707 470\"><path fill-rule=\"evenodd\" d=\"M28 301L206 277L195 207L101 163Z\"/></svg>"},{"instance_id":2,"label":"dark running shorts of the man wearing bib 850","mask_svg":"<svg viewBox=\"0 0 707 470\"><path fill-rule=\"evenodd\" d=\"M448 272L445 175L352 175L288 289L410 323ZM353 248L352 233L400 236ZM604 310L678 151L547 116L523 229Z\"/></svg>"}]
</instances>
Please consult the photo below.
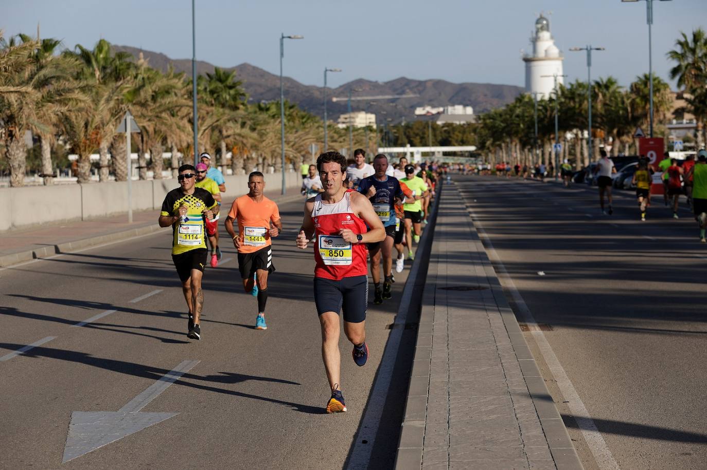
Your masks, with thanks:
<instances>
[{"instance_id":1,"label":"dark running shorts of the man wearing bib 850","mask_svg":"<svg viewBox=\"0 0 707 470\"><path fill-rule=\"evenodd\" d=\"M361 323L366 320L368 306L368 277L344 277L340 281L314 278L314 301L317 315L344 312L344 321Z\"/></svg>"}]
</instances>

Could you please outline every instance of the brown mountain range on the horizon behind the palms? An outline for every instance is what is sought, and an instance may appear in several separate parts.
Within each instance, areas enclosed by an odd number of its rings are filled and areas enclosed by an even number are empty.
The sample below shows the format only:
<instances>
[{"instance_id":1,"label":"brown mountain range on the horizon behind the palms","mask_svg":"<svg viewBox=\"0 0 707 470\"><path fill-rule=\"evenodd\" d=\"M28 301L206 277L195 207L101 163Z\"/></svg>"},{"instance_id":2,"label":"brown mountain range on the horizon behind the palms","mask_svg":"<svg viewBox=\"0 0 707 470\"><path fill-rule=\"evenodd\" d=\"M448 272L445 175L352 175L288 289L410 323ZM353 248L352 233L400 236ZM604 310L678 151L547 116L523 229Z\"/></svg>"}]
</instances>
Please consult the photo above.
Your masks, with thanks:
<instances>
[{"instance_id":1,"label":"brown mountain range on the horizon behind the palms","mask_svg":"<svg viewBox=\"0 0 707 470\"><path fill-rule=\"evenodd\" d=\"M115 51L128 52L134 57L142 54L148 65L161 71L166 71L168 66L173 66L175 71L184 72L192 76L191 59L170 59L165 54L147 51L129 46L113 46ZM251 64L240 64L235 67L224 67L226 70L236 71L236 78L243 82L243 88L248 94L250 102L267 102L279 100L279 76L264 71L262 68ZM214 65L205 61L197 61L197 74L211 73ZM322 87L303 85L297 80L285 77L283 79L285 99L298 104L306 111L322 116L324 114L324 92ZM377 95L419 95L411 98L398 98L394 100L378 100L368 102L368 112L378 115L378 119L385 112L387 118L398 122L401 119L412 121L414 109L421 106L448 106L463 104L474 107L474 113L479 114L489 109L501 107L512 102L523 89L514 85L494 85L492 83L450 83L446 80L413 80L411 78L396 78L387 82L375 82L358 78L349 83L344 83L327 92L327 117L337 119L339 114L346 112L346 100L332 102L331 97L346 97L349 90L354 89L353 96ZM351 109L363 110L365 102L352 101Z\"/></svg>"}]
</instances>

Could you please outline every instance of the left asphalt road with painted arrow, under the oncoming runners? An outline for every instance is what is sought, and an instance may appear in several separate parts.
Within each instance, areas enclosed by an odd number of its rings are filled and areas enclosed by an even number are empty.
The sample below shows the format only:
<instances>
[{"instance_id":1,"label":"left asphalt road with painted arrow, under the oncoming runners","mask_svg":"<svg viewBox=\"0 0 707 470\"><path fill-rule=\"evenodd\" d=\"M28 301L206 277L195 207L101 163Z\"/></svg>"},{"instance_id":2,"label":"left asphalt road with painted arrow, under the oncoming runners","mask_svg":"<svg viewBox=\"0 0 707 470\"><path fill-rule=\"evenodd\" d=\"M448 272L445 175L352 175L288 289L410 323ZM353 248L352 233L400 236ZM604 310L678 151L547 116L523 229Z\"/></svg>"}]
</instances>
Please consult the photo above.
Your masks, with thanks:
<instances>
[{"instance_id":1,"label":"left asphalt road with painted arrow, under the oncoming runners","mask_svg":"<svg viewBox=\"0 0 707 470\"><path fill-rule=\"evenodd\" d=\"M311 250L300 251L294 243L302 207L299 201L280 207L284 231L274 241L277 271L269 282L267 331L253 329L257 301L243 293L223 224L223 261L204 275L198 342L186 337L170 229L0 270L5 359L0 358L0 467L339 469L347 464L409 264L396 275L393 299L369 306L366 366L354 364L342 334L341 389L349 411L325 414L329 387L312 301L314 260ZM95 319L76 326L90 318ZM390 468L395 460L414 333L406 330L402 337L371 452L370 465L377 468ZM47 338L24 354L5 356ZM198 363L137 407L176 416L62 464L72 412L124 411L183 361ZM169 384L159 382L158 389L160 383ZM78 433L76 440L82 439Z\"/></svg>"}]
</instances>

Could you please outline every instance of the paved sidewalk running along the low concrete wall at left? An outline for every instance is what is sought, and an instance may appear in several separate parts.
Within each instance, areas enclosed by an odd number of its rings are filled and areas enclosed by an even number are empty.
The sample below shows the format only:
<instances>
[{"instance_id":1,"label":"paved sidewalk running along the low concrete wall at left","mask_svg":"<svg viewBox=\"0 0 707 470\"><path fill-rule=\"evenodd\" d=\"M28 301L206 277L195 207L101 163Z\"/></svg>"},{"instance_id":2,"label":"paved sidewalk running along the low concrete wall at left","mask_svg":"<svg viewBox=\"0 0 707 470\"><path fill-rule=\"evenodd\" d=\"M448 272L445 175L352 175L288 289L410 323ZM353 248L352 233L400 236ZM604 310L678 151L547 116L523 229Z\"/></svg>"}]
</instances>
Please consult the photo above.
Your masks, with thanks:
<instances>
[{"instance_id":1,"label":"paved sidewalk running along the low concrete wall at left","mask_svg":"<svg viewBox=\"0 0 707 470\"><path fill-rule=\"evenodd\" d=\"M280 191L269 191L266 195L276 203L298 199L304 203L304 196L300 195L299 188L289 188L285 195L281 195ZM231 203L233 199L224 200L222 210L228 212ZM226 212L223 213L222 220L226 219ZM133 212L132 224L127 222L125 212L100 219L6 231L0 234L0 267L165 230L157 224L159 214L159 210Z\"/></svg>"}]
</instances>

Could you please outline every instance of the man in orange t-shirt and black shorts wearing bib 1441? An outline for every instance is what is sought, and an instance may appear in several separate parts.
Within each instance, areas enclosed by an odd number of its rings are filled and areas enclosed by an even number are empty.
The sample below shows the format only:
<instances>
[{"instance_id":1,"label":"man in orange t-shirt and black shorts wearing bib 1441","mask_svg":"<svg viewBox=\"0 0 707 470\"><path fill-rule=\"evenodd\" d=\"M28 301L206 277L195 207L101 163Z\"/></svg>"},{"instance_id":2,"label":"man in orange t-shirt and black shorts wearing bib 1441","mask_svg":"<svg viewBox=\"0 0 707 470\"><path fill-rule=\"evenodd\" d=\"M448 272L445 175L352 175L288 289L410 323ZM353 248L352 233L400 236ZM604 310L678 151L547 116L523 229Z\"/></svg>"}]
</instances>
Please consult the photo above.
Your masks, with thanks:
<instances>
[{"instance_id":1,"label":"man in orange t-shirt and black shorts wearing bib 1441","mask_svg":"<svg viewBox=\"0 0 707 470\"><path fill-rule=\"evenodd\" d=\"M243 279L243 289L258 298L256 330L267 330L265 304L267 303L267 278L275 271L272 263L271 238L282 231L277 204L263 195L265 179L260 171L248 175L248 193L233 201L226 217L226 231L238 250L238 270ZM233 221L238 221L238 234Z\"/></svg>"}]
</instances>

